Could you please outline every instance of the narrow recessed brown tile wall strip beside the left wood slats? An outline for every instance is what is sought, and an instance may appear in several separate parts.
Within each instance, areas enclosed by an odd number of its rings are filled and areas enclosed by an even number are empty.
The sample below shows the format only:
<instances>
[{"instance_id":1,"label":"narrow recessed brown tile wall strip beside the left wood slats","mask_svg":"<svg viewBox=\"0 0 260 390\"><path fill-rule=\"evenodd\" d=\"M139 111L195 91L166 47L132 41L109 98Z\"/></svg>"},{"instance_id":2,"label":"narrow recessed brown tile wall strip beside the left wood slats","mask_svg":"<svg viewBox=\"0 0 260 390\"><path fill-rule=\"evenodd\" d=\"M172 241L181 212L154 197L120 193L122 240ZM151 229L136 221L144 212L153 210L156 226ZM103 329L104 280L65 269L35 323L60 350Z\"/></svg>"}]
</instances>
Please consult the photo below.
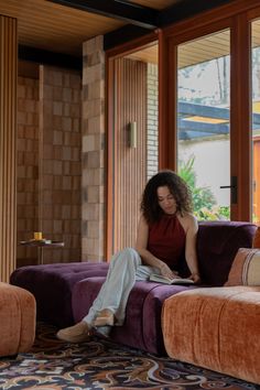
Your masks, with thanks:
<instances>
[{"instance_id":1,"label":"narrow recessed brown tile wall strip beside the left wood slats","mask_svg":"<svg viewBox=\"0 0 260 390\"><path fill-rule=\"evenodd\" d=\"M18 242L39 228L39 80L18 78ZM37 249L18 246L19 266L35 263Z\"/></svg>"}]
</instances>

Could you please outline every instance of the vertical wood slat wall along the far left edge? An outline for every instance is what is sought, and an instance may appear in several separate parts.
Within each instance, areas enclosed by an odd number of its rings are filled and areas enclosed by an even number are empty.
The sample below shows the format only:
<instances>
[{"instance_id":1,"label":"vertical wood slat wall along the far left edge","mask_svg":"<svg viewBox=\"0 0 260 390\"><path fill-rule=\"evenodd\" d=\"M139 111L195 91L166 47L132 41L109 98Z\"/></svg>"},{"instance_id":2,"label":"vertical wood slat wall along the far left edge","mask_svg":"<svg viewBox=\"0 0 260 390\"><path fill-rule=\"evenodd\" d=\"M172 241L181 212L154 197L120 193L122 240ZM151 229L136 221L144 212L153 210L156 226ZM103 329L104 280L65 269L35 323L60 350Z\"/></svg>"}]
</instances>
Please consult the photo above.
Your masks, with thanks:
<instances>
[{"instance_id":1,"label":"vertical wood slat wall along the far left edge","mask_svg":"<svg viewBox=\"0 0 260 390\"><path fill-rule=\"evenodd\" d=\"M17 20L0 15L0 280L17 258Z\"/></svg>"}]
</instances>

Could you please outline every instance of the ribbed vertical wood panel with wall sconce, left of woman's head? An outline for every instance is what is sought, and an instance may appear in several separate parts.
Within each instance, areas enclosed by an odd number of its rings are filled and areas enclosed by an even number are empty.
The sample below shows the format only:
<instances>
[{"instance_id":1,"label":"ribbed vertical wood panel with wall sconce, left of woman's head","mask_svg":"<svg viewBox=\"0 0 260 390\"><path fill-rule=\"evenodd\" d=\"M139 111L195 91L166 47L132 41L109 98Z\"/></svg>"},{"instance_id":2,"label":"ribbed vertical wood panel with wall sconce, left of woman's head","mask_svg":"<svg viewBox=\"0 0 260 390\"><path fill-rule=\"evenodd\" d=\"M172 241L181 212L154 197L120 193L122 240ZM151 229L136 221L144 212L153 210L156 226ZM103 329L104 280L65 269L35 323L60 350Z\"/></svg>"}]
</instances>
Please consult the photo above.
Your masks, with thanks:
<instances>
[{"instance_id":1,"label":"ribbed vertical wood panel with wall sconce, left of woman's head","mask_svg":"<svg viewBox=\"0 0 260 390\"><path fill-rule=\"evenodd\" d=\"M113 251L133 246L147 181L147 65L115 59ZM137 122L137 148L129 148L129 123Z\"/></svg>"}]
</instances>

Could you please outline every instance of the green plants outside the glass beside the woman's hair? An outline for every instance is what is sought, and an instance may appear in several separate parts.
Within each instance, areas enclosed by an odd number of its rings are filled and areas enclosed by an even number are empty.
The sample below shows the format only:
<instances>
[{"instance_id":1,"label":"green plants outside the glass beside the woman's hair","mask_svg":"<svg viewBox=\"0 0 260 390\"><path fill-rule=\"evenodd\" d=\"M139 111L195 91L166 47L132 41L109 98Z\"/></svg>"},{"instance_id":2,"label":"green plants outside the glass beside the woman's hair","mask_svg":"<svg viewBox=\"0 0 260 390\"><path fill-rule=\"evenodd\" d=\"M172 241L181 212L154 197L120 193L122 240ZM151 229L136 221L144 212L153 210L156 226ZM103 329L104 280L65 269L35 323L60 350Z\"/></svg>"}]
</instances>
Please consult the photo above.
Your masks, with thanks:
<instances>
[{"instance_id":1,"label":"green plants outside the glass beside the woman's hair","mask_svg":"<svg viewBox=\"0 0 260 390\"><path fill-rule=\"evenodd\" d=\"M194 155L192 155L186 162L180 161L178 174L187 183L192 191L195 216L201 220L229 219L229 207L217 206L217 202L212 189L209 187L199 187L196 185L194 161Z\"/></svg>"}]
</instances>

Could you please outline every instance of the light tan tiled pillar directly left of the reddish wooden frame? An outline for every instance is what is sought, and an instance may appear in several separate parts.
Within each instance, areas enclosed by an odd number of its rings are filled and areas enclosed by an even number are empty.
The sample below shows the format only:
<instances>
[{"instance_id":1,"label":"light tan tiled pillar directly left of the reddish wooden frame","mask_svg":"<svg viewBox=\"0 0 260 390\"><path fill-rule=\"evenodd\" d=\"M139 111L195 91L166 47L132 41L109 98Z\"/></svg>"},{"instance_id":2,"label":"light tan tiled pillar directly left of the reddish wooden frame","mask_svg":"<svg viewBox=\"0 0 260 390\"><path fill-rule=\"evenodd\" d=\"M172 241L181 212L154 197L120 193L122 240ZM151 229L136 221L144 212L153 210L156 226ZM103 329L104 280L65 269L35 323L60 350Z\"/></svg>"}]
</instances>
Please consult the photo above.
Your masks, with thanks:
<instances>
[{"instance_id":1,"label":"light tan tiled pillar directly left of the reddish wooden frame","mask_svg":"<svg viewBox=\"0 0 260 390\"><path fill-rule=\"evenodd\" d=\"M82 260L104 260L105 53L102 36L83 45Z\"/></svg>"}]
</instances>

